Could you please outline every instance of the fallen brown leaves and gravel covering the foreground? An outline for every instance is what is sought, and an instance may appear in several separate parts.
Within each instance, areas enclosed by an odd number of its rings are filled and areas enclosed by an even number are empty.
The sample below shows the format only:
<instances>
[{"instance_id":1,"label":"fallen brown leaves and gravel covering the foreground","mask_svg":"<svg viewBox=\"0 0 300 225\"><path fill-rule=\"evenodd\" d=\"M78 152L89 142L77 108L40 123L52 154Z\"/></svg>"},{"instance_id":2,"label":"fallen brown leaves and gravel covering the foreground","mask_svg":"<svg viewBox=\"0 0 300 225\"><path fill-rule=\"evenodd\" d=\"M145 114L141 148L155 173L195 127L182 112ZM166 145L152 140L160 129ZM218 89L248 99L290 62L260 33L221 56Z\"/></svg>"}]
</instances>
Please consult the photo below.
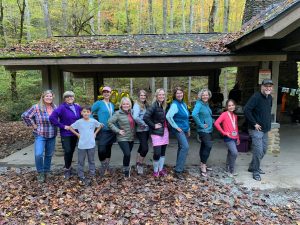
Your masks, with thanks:
<instances>
[{"instance_id":1,"label":"fallen brown leaves and gravel covering the foreground","mask_svg":"<svg viewBox=\"0 0 300 225\"><path fill-rule=\"evenodd\" d=\"M0 224L299 224L299 192L248 190L215 168L209 178L191 167L184 180L120 169L90 186L55 169L39 184L32 169L0 175ZM277 197L274 198L273 195ZM273 197L272 197L273 196ZM285 196L285 197L284 197ZM276 199L276 201L274 201Z\"/></svg>"}]
</instances>

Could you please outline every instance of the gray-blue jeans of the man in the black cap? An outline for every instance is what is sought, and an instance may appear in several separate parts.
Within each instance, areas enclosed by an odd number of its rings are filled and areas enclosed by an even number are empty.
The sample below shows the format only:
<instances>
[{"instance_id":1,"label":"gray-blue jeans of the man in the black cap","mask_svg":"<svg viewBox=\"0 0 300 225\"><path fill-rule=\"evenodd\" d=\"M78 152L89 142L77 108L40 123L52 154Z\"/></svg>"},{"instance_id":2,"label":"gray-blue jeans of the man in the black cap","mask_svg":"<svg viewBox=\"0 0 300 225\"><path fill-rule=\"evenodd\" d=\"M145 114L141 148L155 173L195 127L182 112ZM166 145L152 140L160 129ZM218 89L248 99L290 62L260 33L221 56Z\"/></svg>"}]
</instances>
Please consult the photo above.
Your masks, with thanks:
<instances>
[{"instance_id":1,"label":"gray-blue jeans of the man in the black cap","mask_svg":"<svg viewBox=\"0 0 300 225\"><path fill-rule=\"evenodd\" d=\"M259 174L260 161L268 149L268 133L249 130L249 134L252 139L252 161L249 165L249 169L253 170L253 174Z\"/></svg>"}]
</instances>

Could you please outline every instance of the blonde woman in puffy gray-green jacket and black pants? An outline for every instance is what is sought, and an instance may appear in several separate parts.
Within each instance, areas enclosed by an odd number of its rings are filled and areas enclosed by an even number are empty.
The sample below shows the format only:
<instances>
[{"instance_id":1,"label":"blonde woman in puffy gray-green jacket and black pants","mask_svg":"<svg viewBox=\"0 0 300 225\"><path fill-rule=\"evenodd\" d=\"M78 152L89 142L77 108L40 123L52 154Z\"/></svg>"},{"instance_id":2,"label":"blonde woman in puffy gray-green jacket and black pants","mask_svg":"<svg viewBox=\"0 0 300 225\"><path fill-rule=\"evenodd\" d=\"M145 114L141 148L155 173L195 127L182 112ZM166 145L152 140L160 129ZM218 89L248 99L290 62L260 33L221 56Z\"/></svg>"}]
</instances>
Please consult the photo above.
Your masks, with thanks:
<instances>
[{"instance_id":1,"label":"blonde woman in puffy gray-green jacket and black pants","mask_svg":"<svg viewBox=\"0 0 300 225\"><path fill-rule=\"evenodd\" d=\"M123 151L123 173L130 177L130 156L133 147L135 122L131 115L131 101L124 97L120 102L120 109L108 120L108 127L117 134L118 144Z\"/></svg>"}]
</instances>

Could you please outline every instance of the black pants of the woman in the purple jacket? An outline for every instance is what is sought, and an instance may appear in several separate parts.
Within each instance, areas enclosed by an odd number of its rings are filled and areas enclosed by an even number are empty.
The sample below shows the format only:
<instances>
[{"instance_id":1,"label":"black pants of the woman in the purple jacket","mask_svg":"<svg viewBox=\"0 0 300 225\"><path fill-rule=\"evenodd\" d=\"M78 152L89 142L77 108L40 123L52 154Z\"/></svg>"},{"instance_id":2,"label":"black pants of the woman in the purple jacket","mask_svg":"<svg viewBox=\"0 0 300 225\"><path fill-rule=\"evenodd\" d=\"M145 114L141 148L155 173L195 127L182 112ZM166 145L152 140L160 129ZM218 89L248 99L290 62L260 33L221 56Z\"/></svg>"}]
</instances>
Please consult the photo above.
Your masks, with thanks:
<instances>
[{"instance_id":1,"label":"black pants of the woman in the purple jacket","mask_svg":"<svg viewBox=\"0 0 300 225\"><path fill-rule=\"evenodd\" d=\"M72 164L73 154L78 138L76 136L61 137L62 148L64 149L65 168L69 169Z\"/></svg>"}]
</instances>

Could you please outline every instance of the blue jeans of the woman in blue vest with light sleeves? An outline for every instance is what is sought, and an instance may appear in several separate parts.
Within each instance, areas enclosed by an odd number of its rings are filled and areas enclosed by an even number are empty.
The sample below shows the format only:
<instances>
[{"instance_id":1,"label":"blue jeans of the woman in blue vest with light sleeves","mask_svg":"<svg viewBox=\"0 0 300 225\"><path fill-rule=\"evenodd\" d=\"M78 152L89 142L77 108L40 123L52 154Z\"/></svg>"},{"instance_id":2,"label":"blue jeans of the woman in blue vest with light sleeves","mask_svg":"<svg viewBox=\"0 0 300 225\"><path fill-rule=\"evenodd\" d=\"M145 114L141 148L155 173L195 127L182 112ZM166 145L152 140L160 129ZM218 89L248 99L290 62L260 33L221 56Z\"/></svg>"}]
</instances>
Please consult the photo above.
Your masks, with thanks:
<instances>
[{"instance_id":1,"label":"blue jeans of the woman in blue vest with light sleeves","mask_svg":"<svg viewBox=\"0 0 300 225\"><path fill-rule=\"evenodd\" d=\"M178 141L177 159L176 159L176 172L182 172L184 170L184 164L187 154L189 152L189 143L187 140L187 133L174 131L176 139Z\"/></svg>"}]
</instances>

